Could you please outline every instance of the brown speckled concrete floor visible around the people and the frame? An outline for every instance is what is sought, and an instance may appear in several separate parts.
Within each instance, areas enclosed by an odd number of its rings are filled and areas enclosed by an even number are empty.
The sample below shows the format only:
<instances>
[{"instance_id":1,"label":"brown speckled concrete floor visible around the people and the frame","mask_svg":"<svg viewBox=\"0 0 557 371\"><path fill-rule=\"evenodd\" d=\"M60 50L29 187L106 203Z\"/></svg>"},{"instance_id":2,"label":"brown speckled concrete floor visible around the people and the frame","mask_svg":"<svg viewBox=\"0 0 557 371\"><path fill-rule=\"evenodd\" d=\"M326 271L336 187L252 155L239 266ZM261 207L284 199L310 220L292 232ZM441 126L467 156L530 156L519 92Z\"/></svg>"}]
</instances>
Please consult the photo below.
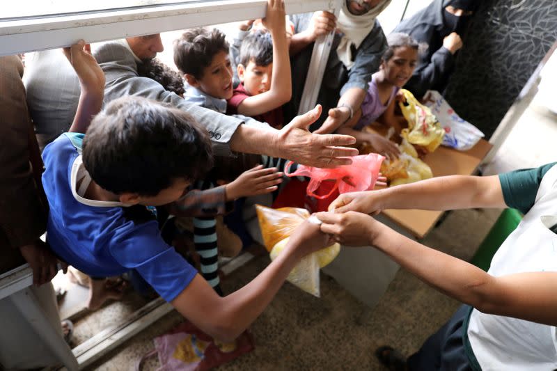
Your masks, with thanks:
<instances>
[{"instance_id":1,"label":"brown speckled concrete floor visible around the people and the frame","mask_svg":"<svg viewBox=\"0 0 557 371\"><path fill-rule=\"evenodd\" d=\"M485 175L555 161L557 157L552 149L557 139L557 119L546 109L536 106L536 102L526 110L494 161L483 168ZM500 212L450 212L422 242L469 260ZM231 292L249 282L268 262L266 255L251 260L223 281L224 290ZM369 276L361 280L365 285L374 285ZM356 299L324 274L320 299L285 283L271 305L251 326L256 349L220 369L383 370L373 356L375 348L390 344L407 355L415 352L460 305L404 270L397 271L384 294L382 291L378 290L378 299L374 303L366 305L364 301L368 300ZM110 310L107 315L114 316L115 313ZM172 329L181 320L178 313L166 315L125 345L113 349L89 369L133 369L136 361L152 349L152 339ZM87 333L94 333L92 326L95 322L106 323L100 319L87 321ZM158 367L154 358L143 370Z\"/></svg>"}]
</instances>

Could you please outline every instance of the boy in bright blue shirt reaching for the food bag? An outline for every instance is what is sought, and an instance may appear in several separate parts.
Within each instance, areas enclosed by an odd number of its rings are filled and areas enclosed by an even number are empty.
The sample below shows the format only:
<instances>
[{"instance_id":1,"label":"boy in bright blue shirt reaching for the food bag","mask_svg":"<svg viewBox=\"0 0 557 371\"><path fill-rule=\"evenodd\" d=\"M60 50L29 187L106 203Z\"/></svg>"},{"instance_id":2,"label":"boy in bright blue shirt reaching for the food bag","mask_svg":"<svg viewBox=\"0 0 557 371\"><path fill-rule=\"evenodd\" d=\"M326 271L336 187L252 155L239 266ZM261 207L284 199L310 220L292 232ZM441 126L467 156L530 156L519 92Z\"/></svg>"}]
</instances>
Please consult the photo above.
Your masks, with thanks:
<instances>
[{"instance_id":1,"label":"boy in bright blue shirt reaching for the food bag","mask_svg":"<svg viewBox=\"0 0 557 371\"><path fill-rule=\"evenodd\" d=\"M207 132L189 113L139 97L114 100L91 120L102 104L104 75L81 47L71 52L81 84L78 110L70 132L43 152L53 250L95 277L135 269L202 331L233 340L260 315L297 262L327 246L327 235L304 223L253 281L219 297L163 241L146 207L179 201L191 180L212 166ZM198 212L214 213L218 205Z\"/></svg>"}]
</instances>

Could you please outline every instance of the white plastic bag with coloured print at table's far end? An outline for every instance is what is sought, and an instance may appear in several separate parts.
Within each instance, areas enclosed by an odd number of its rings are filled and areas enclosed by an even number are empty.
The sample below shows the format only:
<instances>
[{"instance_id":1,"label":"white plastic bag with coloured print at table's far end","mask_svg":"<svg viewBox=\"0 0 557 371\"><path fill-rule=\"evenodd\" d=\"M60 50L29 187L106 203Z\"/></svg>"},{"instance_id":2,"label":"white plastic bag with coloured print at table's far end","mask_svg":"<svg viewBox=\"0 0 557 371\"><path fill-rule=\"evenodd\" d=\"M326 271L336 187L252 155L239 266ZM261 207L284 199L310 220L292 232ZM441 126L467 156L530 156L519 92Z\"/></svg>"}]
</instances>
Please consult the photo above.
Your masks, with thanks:
<instances>
[{"instance_id":1,"label":"white plastic bag with coloured print at table's far end","mask_svg":"<svg viewBox=\"0 0 557 371\"><path fill-rule=\"evenodd\" d=\"M458 116L437 90L427 90L424 100L445 130L443 145L465 151L485 136L480 129Z\"/></svg>"}]
</instances>

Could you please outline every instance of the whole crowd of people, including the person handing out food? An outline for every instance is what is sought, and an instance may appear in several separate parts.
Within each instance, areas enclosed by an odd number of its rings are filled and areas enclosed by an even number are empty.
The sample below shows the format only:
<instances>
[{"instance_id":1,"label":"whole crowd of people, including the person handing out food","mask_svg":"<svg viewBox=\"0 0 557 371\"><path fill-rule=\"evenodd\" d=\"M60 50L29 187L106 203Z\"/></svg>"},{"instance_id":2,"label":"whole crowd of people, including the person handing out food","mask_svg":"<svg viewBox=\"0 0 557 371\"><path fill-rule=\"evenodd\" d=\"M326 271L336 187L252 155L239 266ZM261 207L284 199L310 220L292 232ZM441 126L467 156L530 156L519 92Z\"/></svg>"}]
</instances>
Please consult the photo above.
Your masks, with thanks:
<instances>
[{"instance_id":1,"label":"whole crowd of people, including the person handing out food","mask_svg":"<svg viewBox=\"0 0 557 371\"><path fill-rule=\"evenodd\" d=\"M63 54L26 56L25 70L17 56L0 58L3 271L29 262L41 285L58 262L69 264L87 276L90 308L121 297L125 283L109 278L127 273L139 292L156 293L205 333L231 341L308 253L332 241L374 246L465 304L410 358L377 349L389 369L557 368L553 164L341 195L253 281L232 293L220 287L219 253L228 246L235 255L253 237L242 228L244 201L276 194L286 159L350 164L363 142L397 157L394 143L363 127L400 129L401 88L422 97L446 87L480 2L434 0L385 36L376 18L389 3L346 0L337 18L287 16L282 0L268 0L265 17L242 22L233 37L187 29L173 43L178 70L156 59L159 34L93 51L81 40ZM318 104L296 116L313 43L330 32ZM370 216L464 207L525 214L487 273ZM180 248L184 239L194 248Z\"/></svg>"}]
</instances>

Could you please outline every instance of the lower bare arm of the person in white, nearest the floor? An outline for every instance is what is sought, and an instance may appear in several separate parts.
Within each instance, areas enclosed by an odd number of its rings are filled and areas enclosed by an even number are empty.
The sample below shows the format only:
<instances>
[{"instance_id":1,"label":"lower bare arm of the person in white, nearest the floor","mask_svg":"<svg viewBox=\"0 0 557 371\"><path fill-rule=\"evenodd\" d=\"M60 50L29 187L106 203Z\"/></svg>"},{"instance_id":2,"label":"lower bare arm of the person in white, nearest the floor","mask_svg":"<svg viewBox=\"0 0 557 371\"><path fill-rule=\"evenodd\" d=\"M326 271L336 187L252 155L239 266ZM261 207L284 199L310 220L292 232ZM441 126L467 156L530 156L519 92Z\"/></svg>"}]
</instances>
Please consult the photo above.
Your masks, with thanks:
<instances>
[{"instance_id":1,"label":"lower bare arm of the person in white, nearest the floor","mask_svg":"<svg viewBox=\"0 0 557 371\"><path fill-rule=\"evenodd\" d=\"M491 276L482 269L424 246L358 212L320 213L321 230L352 246L375 246L425 283L483 313L557 325L557 273Z\"/></svg>"}]
</instances>

